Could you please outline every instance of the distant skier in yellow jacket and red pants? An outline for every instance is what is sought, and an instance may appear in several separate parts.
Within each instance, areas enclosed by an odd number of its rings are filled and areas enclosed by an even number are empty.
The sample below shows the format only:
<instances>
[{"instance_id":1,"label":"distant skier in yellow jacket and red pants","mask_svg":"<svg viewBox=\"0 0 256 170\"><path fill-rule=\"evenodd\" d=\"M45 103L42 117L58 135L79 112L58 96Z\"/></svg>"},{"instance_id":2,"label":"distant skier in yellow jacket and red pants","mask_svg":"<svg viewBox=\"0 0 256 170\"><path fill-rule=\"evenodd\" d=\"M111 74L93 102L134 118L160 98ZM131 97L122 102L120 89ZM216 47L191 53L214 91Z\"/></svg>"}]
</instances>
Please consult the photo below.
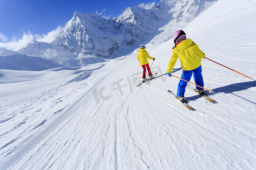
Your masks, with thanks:
<instances>
[{"instance_id":1,"label":"distant skier in yellow jacket and red pants","mask_svg":"<svg viewBox=\"0 0 256 170\"><path fill-rule=\"evenodd\" d=\"M145 45L143 45L143 44L140 45L139 46L139 52L138 52L138 55L137 55L137 59L139 60L139 63L141 63L141 66L143 68L143 74L142 74L142 78L143 78L142 81L143 82L146 81L146 71L148 71L148 76L149 76L148 79L152 78L152 73L151 73L151 70L150 70L150 66L148 65L147 58L152 59L153 61L155 60L155 58L150 57L150 55L145 50L145 48L146 48ZM146 68L147 68L147 70L146 70Z\"/></svg>"}]
</instances>

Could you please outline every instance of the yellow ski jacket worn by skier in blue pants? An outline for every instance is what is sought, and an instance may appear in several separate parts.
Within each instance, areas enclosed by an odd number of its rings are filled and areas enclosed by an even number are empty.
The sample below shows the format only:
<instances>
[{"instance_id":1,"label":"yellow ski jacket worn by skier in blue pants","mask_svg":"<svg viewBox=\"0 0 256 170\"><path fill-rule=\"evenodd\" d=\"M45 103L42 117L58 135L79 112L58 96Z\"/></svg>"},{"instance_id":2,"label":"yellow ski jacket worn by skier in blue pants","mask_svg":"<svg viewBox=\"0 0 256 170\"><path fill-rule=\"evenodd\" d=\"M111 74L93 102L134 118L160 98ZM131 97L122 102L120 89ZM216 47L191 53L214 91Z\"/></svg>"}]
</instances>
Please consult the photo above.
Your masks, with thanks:
<instances>
[{"instance_id":1,"label":"yellow ski jacket worn by skier in blue pants","mask_svg":"<svg viewBox=\"0 0 256 170\"><path fill-rule=\"evenodd\" d=\"M205 57L205 53L203 53L199 49L199 46L197 46L191 39L181 41L172 51L172 57L168 63L167 73L172 72L178 57L183 70L188 71L196 69L201 65L201 58Z\"/></svg>"}]
</instances>

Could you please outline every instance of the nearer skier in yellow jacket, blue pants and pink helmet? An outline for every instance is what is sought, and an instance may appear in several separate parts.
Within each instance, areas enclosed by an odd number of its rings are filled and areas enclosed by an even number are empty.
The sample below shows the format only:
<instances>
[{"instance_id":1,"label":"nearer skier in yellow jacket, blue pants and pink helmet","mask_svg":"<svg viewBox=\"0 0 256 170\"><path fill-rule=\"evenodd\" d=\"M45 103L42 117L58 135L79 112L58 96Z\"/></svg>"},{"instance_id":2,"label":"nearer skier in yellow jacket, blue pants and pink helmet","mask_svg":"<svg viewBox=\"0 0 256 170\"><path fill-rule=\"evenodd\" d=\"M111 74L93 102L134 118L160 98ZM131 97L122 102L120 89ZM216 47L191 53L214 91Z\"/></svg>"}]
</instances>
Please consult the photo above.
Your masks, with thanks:
<instances>
[{"instance_id":1,"label":"nearer skier in yellow jacket, blue pants and pink helmet","mask_svg":"<svg viewBox=\"0 0 256 170\"><path fill-rule=\"evenodd\" d=\"M172 69L174 69L177 58L179 57L183 73L181 79L190 81L191 76L195 79L195 83L198 86L204 87L204 81L202 76L201 58L205 57L199 46L190 39L186 39L186 34L183 30L176 31L174 34L174 49L172 51L172 57L168 63L167 75L171 76ZM184 102L185 87L187 82L180 80L177 88L177 98ZM203 88L197 87L195 91L203 94Z\"/></svg>"}]
</instances>

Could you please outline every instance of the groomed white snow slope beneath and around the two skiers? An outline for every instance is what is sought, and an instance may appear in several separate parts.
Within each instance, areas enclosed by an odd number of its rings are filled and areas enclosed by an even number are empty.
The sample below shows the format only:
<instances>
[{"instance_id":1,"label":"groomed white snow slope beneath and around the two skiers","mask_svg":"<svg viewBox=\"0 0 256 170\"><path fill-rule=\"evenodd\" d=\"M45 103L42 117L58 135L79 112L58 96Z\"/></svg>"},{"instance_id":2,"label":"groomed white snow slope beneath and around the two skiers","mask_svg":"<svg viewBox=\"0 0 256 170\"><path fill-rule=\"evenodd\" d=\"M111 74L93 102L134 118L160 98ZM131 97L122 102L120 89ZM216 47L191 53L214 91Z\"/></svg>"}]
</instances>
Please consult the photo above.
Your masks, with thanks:
<instances>
[{"instance_id":1,"label":"groomed white snow slope beneath and around the two skiers","mask_svg":"<svg viewBox=\"0 0 256 170\"><path fill-rule=\"evenodd\" d=\"M255 6L219 0L184 31L208 58L255 79ZM167 94L179 80L164 82L172 45L147 44L159 76L141 87L138 49L72 70L0 70L0 169L256 169L255 80L205 59L218 103L187 90L188 111ZM177 61L172 74L181 71Z\"/></svg>"}]
</instances>

